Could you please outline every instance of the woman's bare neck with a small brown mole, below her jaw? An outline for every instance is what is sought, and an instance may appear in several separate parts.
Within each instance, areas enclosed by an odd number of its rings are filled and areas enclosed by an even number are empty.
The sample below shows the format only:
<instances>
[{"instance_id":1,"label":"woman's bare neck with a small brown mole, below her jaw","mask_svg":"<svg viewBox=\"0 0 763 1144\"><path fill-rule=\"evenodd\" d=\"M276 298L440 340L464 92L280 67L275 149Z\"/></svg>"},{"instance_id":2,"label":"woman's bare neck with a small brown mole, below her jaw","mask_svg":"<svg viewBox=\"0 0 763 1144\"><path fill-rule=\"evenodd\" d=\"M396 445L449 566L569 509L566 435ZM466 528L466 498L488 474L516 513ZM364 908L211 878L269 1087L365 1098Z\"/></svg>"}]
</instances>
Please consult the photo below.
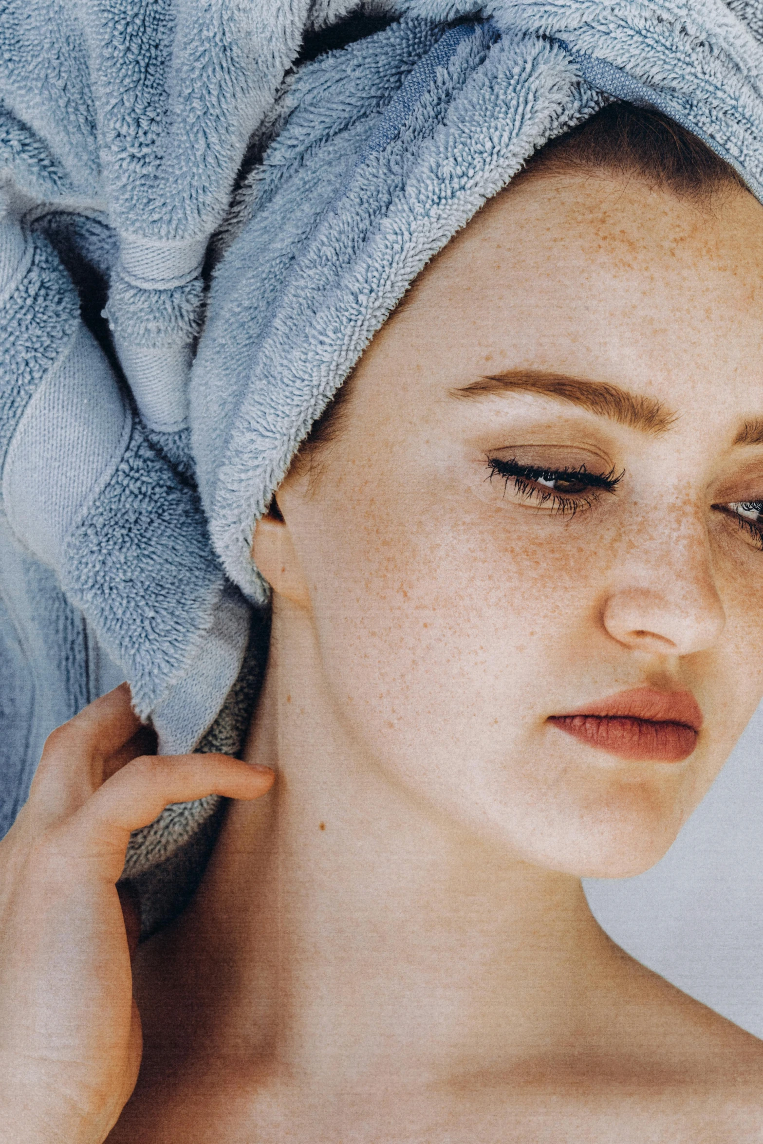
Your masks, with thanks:
<instances>
[{"instance_id":1,"label":"woman's bare neck with a small brown mole, below her jaw","mask_svg":"<svg viewBox=\"0 0 763 1144\"><path fill-rule=\"evenodd\" d=\"M209 1051L326 1091L495 1074L579 1043L612 956L580 882L365 760L302 613L277 610L272 648L246 757L277 781L231 805L182 923L217 983Z\"/></svg>"}]
</instances>

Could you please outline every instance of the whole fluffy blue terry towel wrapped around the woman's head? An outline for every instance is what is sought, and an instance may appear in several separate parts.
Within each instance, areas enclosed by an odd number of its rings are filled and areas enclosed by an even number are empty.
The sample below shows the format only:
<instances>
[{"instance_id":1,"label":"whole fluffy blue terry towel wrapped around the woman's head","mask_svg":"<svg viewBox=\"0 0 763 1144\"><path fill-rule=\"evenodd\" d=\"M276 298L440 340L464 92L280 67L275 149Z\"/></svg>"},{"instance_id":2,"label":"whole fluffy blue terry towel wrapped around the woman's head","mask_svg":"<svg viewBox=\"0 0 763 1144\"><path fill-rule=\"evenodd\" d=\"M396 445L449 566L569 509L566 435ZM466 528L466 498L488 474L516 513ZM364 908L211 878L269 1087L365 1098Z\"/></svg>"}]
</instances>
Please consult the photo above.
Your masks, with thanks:
<instances>
[{"instance_id":1,"label":"whole fluffy blue terry towel wrapped around the woman's head","mask_svg":"<svg viewBox=\"0 0 763 1144\"><path fill-rule=\"evenodd\" d=\"M761 194L761 3L368 0L383 30L292 70L349 11L0 5L6 824L35 728L87 700L82 633L161 749L199 741L244 661L245 597L265 596L256 517L418 272L534 150L628 98ZM59 665L42 690L40 654ZM209 805L135 836L130 876Z\"/></svg>"}]
</instances>

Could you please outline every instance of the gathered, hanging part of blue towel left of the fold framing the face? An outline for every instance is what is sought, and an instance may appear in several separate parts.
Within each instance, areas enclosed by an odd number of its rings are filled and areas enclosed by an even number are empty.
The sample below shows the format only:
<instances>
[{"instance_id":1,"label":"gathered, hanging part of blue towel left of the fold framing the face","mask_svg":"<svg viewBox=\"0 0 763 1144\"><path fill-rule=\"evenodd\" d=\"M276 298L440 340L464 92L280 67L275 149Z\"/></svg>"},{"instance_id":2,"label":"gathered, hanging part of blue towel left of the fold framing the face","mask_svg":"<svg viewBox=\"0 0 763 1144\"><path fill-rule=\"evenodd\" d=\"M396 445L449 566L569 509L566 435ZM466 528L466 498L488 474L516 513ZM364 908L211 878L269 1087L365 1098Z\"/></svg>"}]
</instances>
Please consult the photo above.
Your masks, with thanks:
<instances>
[{"instance_id":1,"label":"gathered, hanging part of blue towel left of the fold framing the face","mask_svg":"<svg viewBox=\"0 0 763 1144\"><path fill-rule=\"evenodd\" d=\"M0 8L2 505L121 665L165 750L190 749L209 726L248 630L189 479L201 263L304 29L349 6ZM111 364L38 227L61 212L111 238L80 257L110 260Z\"/></svg>"}]
</instances>

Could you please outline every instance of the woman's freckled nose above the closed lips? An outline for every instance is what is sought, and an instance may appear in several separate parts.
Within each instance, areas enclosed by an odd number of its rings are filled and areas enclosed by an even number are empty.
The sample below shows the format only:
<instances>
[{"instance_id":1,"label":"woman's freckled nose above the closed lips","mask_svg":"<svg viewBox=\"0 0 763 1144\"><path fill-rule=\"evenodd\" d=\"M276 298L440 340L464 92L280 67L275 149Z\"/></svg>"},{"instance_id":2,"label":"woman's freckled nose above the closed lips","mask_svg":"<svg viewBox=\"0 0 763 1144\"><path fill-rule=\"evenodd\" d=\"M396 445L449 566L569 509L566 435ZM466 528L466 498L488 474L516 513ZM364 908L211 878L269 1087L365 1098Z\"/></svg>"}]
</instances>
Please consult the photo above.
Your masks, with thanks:
<instances>
[{"instance_id":1,"label":"woman's freckled nose above the closed lips","mask_svg":"<svg viewBox=\"0 0 763 1144\"><path fill-rule=\"evenodd\" d=\"M647 564L623 561L618 582L604 602L606 631L634 651L689 656L718 639L725 613L709 564L704 534L655 546ZM642 550L642 558L646 554Z\"/></svg>"}]
</instances>

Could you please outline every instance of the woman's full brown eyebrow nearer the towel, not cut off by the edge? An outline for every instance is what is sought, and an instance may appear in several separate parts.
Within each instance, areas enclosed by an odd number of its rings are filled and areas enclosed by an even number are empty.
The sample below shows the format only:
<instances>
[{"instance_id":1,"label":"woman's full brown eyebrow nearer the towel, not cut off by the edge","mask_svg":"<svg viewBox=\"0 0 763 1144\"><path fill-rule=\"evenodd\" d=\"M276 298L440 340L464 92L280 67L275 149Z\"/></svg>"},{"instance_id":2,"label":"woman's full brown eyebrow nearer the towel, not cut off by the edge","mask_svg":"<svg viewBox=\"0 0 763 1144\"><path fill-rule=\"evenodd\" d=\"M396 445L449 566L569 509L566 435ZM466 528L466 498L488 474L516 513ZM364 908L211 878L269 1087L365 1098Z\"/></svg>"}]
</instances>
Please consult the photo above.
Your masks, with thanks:
<instances>
[{"instance_id":1,"label":"woman's full brown eyebrow nearer the towel, not cut off by the edge","mask_svg":"<svg viewBox=\"0 0 763 1144\"><path fill-rule=\"evenodd\" d=\"M657 436L669 429L675 413L665 408L655 397L629 394L606 381L588 381L571 378L565 373L547 373L542 370L507 370L472 381L470 386L452 389L453 397L480 398L494 394L542 394L559 402L570 402L583 410L609 418L631 429ZM752 422L750 422L752 424ZM755 422L763 440L763 421Z\"/></svg>"}]
</instances>

